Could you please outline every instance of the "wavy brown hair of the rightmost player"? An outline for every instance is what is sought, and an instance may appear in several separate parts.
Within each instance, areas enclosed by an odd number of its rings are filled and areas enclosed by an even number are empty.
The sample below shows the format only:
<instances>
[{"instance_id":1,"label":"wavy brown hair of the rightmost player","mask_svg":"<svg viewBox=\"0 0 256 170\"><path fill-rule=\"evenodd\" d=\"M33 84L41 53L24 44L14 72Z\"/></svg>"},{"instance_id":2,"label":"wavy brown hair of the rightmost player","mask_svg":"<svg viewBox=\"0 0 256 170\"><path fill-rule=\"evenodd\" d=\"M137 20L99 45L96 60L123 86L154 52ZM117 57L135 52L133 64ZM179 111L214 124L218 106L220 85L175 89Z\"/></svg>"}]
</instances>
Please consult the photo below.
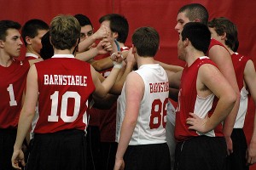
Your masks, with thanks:
<instances>
[{"instance_id":1,"label":"wavy brown hair of the rightmost player","mask_svg":"<svg viewBox=\"0 0 256 170\"><path fill-rule=\"evenodd\" d=\"M224 35L226 33L227 39L225 40L225 44L236 52L239 41L238 41L238 33L236 25L224 17L213 18L209 21L208 26L210 28L214 28L218 36Z\"/></svg>"}]
</instances>

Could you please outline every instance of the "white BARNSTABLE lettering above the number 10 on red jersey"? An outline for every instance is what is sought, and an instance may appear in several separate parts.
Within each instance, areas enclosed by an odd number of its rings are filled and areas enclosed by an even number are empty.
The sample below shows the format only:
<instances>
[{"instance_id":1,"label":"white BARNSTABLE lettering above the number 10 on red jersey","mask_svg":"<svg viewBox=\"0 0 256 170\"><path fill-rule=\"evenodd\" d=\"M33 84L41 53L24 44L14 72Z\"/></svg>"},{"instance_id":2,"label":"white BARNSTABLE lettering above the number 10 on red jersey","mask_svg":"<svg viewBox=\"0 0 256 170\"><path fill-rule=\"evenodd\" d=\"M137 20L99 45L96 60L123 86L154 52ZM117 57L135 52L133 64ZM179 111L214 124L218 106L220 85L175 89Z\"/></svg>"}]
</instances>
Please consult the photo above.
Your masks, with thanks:
<instances>
[{"instance_id":1,"label":"white BARNSTABLE lettering above the number 10 on red jersey","mask_svg":"<svg viewBox=\"0 0 256 170\"><path fill-rule=\"evenodd\" d=\"M87 77L73 75L44 75L44 85L87 86Z\"/></svg>"}]
</instances>

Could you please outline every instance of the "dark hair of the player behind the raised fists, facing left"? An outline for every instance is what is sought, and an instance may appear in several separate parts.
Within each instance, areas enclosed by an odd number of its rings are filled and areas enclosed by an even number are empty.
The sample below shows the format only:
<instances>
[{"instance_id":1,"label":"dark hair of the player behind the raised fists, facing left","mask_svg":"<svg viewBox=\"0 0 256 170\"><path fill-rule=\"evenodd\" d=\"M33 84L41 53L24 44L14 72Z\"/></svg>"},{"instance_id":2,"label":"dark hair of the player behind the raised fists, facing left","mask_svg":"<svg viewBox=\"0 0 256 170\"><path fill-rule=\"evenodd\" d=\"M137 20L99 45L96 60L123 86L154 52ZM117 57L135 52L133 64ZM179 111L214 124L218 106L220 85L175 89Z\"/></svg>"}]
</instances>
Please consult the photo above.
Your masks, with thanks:
<instances>
[{"instance_id":1,"label":"dark hair of the player behind the raised fists, facing left","mask_svg":"<svg viewBox=\"0 0 256 170\"><path fill-rule=\"evenodd\" d=\"M125 16L121 14L106 14L100 18L99 22L102 23L104 20L109 20L111 31L118 32L117 41L125 43L129 32L129 24Z\"/></svg>"}]
</instances>

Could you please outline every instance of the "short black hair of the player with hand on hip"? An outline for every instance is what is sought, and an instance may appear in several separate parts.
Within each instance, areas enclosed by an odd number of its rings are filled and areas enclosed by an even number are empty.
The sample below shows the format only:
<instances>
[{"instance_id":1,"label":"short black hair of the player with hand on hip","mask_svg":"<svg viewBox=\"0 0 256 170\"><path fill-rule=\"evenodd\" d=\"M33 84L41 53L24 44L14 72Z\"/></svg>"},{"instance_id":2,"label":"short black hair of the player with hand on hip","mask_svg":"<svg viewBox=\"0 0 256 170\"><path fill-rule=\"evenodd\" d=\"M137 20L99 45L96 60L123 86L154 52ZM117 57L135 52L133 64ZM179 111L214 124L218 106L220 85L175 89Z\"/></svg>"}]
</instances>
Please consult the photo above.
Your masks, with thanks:
<instances>
[{"instance_id":1,"label":"short black hair of the player with hand on hip","mask_svg":"<svg viewBox=\"0 0 256 170\"><path fill-rule=\"evenodd\" d=\"M195 49L207 54L211 42L211 32L206 25L189 22L183 27L181 36L183 41L188 38Z\"/></svg>"}]
</instances>

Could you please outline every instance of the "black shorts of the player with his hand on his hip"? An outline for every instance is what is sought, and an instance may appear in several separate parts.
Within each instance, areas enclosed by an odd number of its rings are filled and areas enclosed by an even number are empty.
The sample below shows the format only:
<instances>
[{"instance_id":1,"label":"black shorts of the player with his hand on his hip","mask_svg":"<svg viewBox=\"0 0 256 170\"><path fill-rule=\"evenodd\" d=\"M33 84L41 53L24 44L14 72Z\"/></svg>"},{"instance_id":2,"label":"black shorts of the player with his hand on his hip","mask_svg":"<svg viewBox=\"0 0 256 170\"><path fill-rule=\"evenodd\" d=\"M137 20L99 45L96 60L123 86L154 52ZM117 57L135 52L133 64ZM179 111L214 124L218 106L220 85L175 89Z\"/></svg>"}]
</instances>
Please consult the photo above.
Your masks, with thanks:
<instances>
[{"instance_id":1,"label":"black shorts of the player with his hand on his hip","mask_svg":"<svg viewBox=\"0 0 256 170\"><path fill-rule=\"evenodd\" d=\"M224 137L197 136L178 142L175 150L176 170L222 170L227 145Z\"/></svg>"}]
</instances>

